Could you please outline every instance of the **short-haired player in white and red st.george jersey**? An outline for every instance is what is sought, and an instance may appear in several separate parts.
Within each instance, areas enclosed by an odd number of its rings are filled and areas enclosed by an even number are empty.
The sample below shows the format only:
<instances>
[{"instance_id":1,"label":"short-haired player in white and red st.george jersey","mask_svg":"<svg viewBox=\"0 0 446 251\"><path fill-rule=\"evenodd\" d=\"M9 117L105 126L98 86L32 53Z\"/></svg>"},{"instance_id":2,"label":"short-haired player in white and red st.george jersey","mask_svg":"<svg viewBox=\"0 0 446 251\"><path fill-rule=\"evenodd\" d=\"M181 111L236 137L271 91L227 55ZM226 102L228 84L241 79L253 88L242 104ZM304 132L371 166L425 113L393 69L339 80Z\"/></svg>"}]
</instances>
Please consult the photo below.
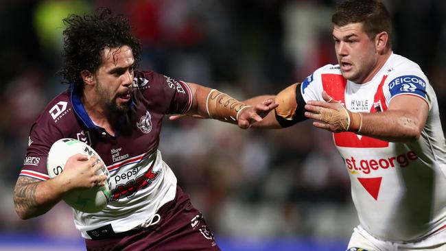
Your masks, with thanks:
<instances>
[{"instance_id":1,"label":"short-haired player in white and red st.george jersey","mask_svg":"<svg viewBox=\"0 0 446 251\"><path fill-rule=\"evenodd\" d=\"M254 126L310 118L333 132L360 219L348 250L446 250L446 145L433 88L392 52L381 1L343 1L332 22L338 64L285 88Z\"/></svg>"}]
</instances>

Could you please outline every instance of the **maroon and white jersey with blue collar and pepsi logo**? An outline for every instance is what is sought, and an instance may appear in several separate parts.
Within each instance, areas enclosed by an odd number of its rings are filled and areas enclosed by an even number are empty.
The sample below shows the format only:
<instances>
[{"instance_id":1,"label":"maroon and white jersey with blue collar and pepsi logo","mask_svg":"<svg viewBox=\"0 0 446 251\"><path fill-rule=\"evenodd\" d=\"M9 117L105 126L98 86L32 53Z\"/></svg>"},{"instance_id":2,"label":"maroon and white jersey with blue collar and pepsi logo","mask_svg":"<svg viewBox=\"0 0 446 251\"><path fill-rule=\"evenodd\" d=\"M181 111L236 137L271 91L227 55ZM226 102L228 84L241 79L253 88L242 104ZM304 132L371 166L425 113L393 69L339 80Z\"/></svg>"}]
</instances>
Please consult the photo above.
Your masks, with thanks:
<instances>
[{"instance_id":1,"label":"maroon and white jersey with blue collar and pepsi logo","mask_svg":"<svg viewBox=\"0 0 446 251\"><path fill-rule=\"evenodd\" d=\"M76 228L91 239L97 228L130 230L174 200L176 177L158 150L161 123L166 114L183 114L192 104L185 82L148 72L135 72L130 110L121 117L112 136L89 118L72 89L54 98L32 125L21 176L48 180L47 156L62 138L84 141L104 160L110 172L110 202L99 213L73 209ZM93 233L94 234L94 233Z\"/></svg>"}]
</instances>

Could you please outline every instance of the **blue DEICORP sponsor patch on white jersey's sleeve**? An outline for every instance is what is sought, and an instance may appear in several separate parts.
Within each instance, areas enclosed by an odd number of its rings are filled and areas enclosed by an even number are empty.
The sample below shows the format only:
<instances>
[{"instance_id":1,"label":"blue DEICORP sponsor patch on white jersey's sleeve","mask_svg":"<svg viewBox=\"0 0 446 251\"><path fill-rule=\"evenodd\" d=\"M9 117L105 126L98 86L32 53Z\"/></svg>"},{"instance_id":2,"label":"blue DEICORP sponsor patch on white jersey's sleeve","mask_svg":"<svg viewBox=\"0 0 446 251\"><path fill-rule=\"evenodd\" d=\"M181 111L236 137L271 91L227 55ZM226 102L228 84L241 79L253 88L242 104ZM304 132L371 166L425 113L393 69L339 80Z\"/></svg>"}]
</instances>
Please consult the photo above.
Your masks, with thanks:
<instances>
[{"instance_id":1,"label":"blue DEICORP sponsor patch on white jersey's sleeve","mask_svg":"<svg viewBox=\"0 0 446 251\"><path fill-rule=\"evenodd\" d=\"M389 90L392 97L403 93L426 97L426 82L416 75L403 75L390 81Z\"/></svg>"}]
</instances>

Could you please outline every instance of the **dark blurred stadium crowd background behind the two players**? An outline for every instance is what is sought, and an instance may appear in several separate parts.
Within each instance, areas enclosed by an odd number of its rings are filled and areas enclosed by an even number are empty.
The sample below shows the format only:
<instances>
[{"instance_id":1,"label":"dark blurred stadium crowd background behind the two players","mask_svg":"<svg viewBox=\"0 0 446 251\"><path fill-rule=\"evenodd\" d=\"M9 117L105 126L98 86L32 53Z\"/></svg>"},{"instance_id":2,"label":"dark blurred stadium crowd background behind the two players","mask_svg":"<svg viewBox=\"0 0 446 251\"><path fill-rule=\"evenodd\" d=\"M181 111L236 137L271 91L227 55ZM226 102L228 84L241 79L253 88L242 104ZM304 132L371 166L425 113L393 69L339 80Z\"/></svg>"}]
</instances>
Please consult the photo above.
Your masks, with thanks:
<instances>
[{"instance_id":1,"label":"dark blurred stadium crowd background behind the two players","mask_svg":"<svg viewBox=\"0 0 446 251\"><path fill-rule=\"evenodd\" d=\"M394 51L421 65L445 125L446 2L386 1ZM12 190L32 121L60 84L62 18L98 6L126 14L143 41L141 69L219 88L274 94L336 62L334 0L0 1L0 250L84 250L71 209L22 221ZM310 123L239 130L165 120L161 151L222 250L343 250L357 216L331 134Z\"/></svg>"}]
</instances>

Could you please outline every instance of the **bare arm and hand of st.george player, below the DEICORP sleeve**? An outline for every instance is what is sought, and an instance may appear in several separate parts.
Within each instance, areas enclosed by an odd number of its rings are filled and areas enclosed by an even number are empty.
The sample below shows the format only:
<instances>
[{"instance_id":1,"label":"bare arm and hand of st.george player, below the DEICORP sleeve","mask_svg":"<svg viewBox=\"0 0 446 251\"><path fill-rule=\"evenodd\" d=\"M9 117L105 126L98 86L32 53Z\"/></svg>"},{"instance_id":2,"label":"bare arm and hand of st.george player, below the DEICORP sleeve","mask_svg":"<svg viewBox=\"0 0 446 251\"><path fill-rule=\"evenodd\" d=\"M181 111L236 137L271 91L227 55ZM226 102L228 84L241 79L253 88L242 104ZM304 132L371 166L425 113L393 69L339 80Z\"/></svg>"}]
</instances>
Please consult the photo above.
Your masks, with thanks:
<instances>
[{"instance_id":1,"label":"bare arm and hand of st.george player, below the DEICORP sleeve","mask_svg":"<svg viewBox=\"0 0 446 251\"><path fill-rule=\"evenodd\" d=\"M308 101L305 116L313 125L330 132L355 132L390 142L408 143L419 139L428 113L427 102L414 95L394 97L384 112L351 112L322 93L325 101ZM408 106L410 104L410 106Z\"/></svg>"}]
</instances>

